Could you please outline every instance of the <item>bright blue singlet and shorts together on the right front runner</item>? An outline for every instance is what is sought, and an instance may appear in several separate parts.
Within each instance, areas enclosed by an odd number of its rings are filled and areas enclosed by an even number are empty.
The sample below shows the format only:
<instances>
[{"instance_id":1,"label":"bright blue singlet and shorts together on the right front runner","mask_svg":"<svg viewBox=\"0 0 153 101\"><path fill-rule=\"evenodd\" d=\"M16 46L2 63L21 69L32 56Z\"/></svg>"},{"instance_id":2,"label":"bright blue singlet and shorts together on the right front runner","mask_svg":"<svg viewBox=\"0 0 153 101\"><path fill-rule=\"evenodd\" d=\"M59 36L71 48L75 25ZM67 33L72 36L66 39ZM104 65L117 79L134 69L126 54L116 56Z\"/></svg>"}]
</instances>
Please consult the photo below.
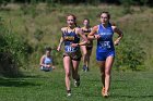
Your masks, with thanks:
<instances>
[{"instance_id":1,"label":"bright blue singlet and shorts together on the right front runner","mask_svg":"<svg viewBox=\"0 0 153 101\"><path fill-rule=\"evenodd\" d=\"M108 26L105 28L102 26L102 24L99 24L97 35L99 35L101 38L97 39L96 60L106 61L107 56L115 56L113 41L114 30L111 28L111 24L108 24Z\"/></svg>"}]
</instances>

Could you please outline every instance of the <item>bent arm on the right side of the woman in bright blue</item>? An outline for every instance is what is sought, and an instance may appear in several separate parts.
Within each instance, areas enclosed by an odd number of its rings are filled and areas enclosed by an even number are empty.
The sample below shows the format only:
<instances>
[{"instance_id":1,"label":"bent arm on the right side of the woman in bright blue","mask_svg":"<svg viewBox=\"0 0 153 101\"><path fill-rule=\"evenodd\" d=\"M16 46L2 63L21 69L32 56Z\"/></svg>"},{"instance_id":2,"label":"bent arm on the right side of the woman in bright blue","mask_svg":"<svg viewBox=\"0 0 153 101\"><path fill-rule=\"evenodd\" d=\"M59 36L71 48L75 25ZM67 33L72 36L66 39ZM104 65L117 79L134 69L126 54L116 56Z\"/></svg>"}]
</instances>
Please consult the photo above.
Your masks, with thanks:
<instances>
[{"instance_id":1,"label":"bent arm on the right side of the woman in bright blue","mask_svg":"<svg viewBox=\"0 0 153 101\"><path fill-rule=\"evenodd\" d=\"M117 26L111 26L113 27L113 29L114 29L114 33L116 33L116 34L118 34L118 38L115 40L115 46L118 46L119 45L119 41L121 40L121 38L123 37L123 34L122 34L122 31L119 29L119 28L117 28Z\"/></svg>"}]
</instances>

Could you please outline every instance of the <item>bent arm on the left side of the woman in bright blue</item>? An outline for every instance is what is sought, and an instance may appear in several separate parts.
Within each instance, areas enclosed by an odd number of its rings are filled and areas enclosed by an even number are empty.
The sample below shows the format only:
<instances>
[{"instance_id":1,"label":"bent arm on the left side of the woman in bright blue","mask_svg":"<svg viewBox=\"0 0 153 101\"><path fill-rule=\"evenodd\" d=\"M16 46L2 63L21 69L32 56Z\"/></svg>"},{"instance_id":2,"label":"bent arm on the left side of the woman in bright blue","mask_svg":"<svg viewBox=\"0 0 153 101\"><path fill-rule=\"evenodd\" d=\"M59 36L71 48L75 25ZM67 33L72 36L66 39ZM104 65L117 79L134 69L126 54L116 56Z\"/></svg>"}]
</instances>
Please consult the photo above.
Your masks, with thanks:
<instances>
[{"instance_id":1,"label":"bent arm on the left side of the woman in bright blue","mask_svg":"<svg viewBox=\"0 0 153 101\"><path fill-rule=\"evenodd\" d=\"M101 36L99 35L95 35L97 33L98 26L94 26L92 28L92 31L87 35L87 38L90 40L94 40L94 39L98 39Z\"/></svg>"}]
</instances>

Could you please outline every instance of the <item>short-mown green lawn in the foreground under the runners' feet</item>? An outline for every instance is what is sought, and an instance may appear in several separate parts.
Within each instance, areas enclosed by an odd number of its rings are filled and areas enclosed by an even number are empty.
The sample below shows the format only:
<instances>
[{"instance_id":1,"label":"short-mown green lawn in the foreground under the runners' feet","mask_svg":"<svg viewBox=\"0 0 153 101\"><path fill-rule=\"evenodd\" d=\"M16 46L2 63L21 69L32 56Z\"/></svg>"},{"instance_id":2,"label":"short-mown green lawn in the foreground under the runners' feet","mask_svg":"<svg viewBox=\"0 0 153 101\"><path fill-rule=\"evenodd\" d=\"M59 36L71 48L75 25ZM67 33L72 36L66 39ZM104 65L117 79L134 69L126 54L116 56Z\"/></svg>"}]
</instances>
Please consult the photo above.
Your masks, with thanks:
<instances>
[{"instance_id":1,"label":"short-mown green lawn in the foreground under the runners' feet","mask_svg":"<svg viewBox=\"0 0 153 101\"><path fill-rule=\"evenodd\" d=\"M27 74L27 73L26 73ZM72 97L66 97L64 72L28 73L25 77L1 78L0 101L152 101L153 74L149 72L113 72L110 97L101 96L97 68L80 71L81 86L72 87ZM72 81L71 81L72 83Z\"/></svg>"}]
</instances>

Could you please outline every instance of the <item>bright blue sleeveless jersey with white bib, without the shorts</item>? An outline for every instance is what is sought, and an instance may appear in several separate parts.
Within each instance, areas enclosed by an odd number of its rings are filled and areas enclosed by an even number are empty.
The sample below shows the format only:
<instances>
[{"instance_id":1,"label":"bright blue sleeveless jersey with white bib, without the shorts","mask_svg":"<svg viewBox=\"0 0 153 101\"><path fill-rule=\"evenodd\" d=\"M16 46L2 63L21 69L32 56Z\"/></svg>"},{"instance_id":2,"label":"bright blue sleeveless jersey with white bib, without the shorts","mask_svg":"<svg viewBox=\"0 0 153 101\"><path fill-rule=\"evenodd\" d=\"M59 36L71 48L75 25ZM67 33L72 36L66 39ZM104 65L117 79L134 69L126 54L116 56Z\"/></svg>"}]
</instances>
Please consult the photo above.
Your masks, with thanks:
<instances>
[{"instance_id":1,"label":"bright blue sleeveless jersey with white bib, without the shorts","mask_svg":"<svg viewBox=\"0 0 153 101\"><path fill-rule=\"evenodd\" d=\"M104 28L102 24L99 24L97 35L101 36L101 38L97 40L97 52L107 52L110 50L115 50L113 42L114 30L110 24L108 24L106 28Z\"/></svg>"}]
</instances>

